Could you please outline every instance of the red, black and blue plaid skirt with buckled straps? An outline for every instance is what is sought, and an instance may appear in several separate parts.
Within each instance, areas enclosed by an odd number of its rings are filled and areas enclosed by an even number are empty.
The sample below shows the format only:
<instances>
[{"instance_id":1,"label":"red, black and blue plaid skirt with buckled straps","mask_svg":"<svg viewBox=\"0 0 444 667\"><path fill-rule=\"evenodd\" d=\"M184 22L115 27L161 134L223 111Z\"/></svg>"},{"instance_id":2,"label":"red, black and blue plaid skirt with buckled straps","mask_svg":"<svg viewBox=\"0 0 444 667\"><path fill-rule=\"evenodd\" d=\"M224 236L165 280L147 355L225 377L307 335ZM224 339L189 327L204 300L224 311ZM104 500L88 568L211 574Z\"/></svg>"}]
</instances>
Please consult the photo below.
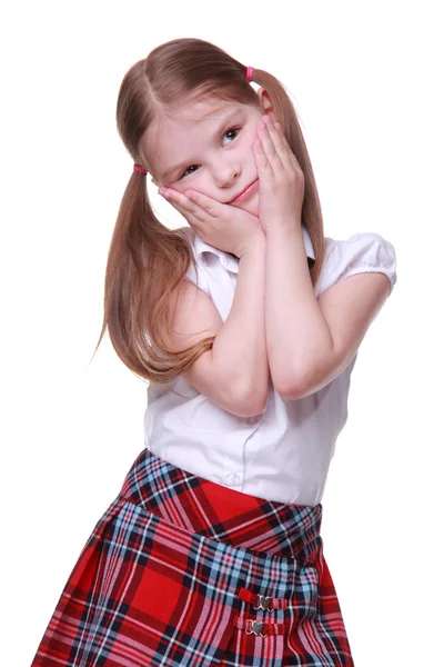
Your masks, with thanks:
<instances>
[{"instance_id":1,"label":"red, black and blue plaid skirt with buckled straps","mask_svg":"<svg viewBox=\"0 0 444 667\"><path fill-rule=\"evenodd\" d=\"M31 667L353 667L321 519L144 449Z\"/></svg>"}]
</instances>

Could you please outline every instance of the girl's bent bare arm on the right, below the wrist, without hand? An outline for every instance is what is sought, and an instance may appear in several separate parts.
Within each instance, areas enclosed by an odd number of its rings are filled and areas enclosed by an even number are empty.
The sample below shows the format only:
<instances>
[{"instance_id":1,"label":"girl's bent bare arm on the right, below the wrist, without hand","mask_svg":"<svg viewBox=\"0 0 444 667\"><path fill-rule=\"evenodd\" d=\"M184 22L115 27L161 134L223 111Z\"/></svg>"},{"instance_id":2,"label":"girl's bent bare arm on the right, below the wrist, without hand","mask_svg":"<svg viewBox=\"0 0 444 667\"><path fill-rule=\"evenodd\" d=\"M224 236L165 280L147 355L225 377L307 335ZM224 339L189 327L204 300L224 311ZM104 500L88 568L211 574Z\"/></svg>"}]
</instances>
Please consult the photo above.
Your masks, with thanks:
<instances>
[{"instance_id":1,"label":"girl's bent bare arm on the right, below the wrist, without hand","mask_svg":"<svg viewBox=\"0 0 444 667\"><path fill-rule=\"evenodd\" d=\"M301 225L266 235L265 329L273 384L285 398L303 398L331 382L357 352L390 292L383 273L357 273L317 300Z\"/></svg>"}]
</instances>

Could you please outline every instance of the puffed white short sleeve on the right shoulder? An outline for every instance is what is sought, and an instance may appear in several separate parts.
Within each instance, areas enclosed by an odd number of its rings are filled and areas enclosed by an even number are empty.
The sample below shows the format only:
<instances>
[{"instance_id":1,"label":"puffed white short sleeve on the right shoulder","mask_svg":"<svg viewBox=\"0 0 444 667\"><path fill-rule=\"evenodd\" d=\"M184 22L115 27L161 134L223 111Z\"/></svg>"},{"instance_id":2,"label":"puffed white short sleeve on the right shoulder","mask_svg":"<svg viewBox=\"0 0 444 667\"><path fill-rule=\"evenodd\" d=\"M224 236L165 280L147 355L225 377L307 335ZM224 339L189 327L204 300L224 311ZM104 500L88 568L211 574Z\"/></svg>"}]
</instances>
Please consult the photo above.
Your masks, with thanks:
<instances>
[{"instance_id":1,"label":"puffed white short sleeve on the right shoulder","mask_svg":"<svg viewBox=\"0 0 444 667\"><path fill-rule=\"evenodd\" d=\"M379 233L355 233L345 240L325 237L325 255L315 286L316 298L340 280L355 273L385 273L391 283L390 295L396 283L396 252L390 241Z\"/></svg>"}]
</instances>

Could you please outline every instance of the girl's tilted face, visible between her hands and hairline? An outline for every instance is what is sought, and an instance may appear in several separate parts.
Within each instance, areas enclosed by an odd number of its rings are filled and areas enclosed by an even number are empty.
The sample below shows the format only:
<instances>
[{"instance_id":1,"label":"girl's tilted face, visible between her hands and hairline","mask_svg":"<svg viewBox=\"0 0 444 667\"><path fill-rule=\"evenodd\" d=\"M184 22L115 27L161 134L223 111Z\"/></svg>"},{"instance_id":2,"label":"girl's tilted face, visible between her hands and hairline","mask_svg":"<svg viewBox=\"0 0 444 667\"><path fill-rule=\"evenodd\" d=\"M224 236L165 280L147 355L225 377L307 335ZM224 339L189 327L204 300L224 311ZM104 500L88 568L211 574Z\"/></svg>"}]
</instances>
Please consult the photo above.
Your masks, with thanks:
<instances>
[{"instance_id":1,"label":"girl's tilted face, visible between her hands and hairline","mask_svg":"<svg viewBox=\"0 0 444 667\"><path fill-rule=\"evenodd\" d=\"M152 123L143 138L152 180L185 192L202 192L258 216L259 191L232 201L258 180L253 156L264 111L235 101L195 101Z\"/></svg>"}]
</instances>

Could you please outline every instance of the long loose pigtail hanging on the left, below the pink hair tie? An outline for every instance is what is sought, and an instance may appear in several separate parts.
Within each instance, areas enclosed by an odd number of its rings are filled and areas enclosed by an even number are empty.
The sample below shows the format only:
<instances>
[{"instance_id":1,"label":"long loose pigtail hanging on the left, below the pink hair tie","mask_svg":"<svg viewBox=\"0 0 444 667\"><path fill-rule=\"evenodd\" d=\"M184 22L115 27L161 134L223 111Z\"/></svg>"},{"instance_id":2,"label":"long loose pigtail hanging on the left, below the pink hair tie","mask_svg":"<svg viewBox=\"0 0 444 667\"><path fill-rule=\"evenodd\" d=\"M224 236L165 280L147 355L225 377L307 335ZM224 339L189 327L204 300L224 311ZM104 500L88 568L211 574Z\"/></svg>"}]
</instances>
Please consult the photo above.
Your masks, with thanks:
<instances>
[{"instance_id":1,"label":"long loose pigtail hanging on the left, below the pink hair tie","mask_svg":"<svg viewBox=\"0 0 444 667\"><path fill-rule=\"evenodd\" d=\"M135 375L168 382L212 348L214 336L180 351L170 345L170 299L190 263L196 271L182 229L165 228L155 217L145 177L133 171L120 205L104 280L103 323L120 359Z\"/></svg>"}]
</instances>

